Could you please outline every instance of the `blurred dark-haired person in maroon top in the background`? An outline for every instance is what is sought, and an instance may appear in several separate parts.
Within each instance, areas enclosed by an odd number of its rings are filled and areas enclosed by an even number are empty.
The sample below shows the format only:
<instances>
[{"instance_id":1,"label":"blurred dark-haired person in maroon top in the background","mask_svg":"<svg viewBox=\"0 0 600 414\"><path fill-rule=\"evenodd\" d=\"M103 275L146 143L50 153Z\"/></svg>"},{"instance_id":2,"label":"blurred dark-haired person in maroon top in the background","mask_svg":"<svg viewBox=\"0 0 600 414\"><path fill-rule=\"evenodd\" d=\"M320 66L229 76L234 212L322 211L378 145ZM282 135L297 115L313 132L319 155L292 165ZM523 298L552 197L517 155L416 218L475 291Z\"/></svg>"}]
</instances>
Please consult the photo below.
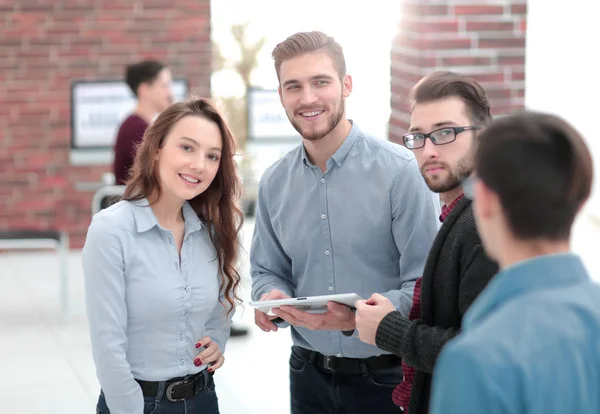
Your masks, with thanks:
<instances>
[{"instance_id":1,"label":"blurred dark-haired person in maroon top in the background","mask_svg":"<svg viewBox=\"0 0 600 414\"><path fill-rule=\"evenodd\" d=\"M113 173L117 185L125 185L135 150L148 125L173 102L171 71L161 62L144 60L127 66L125 82L135 95L137 105L119 127L115 140Z\"/></svg>"}]
</instances>

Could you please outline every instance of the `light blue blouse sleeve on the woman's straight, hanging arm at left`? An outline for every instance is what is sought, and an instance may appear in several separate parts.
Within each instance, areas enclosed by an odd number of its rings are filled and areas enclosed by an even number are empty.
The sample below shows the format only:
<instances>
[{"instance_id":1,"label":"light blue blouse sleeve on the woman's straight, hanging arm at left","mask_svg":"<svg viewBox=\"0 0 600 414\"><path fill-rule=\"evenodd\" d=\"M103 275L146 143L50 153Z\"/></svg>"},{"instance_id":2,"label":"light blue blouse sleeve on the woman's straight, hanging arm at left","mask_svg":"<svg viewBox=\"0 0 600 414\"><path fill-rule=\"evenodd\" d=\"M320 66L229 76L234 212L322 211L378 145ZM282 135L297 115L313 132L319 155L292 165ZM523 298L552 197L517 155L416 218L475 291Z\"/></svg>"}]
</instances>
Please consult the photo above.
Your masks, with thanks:
<instances>
[{"instance_id":1,"label":"light blue blouse sleeve on the woman's straight, hanging arm at left","mask_svg":"<svg viewBox=\"0 0 600 414\"><path fill-rule=\"evenodd\" d=\"M96 373L112 414L142 414L143 395L127 361L124 231L94 217L82 251Z\"/></svg>"}]
</instances>

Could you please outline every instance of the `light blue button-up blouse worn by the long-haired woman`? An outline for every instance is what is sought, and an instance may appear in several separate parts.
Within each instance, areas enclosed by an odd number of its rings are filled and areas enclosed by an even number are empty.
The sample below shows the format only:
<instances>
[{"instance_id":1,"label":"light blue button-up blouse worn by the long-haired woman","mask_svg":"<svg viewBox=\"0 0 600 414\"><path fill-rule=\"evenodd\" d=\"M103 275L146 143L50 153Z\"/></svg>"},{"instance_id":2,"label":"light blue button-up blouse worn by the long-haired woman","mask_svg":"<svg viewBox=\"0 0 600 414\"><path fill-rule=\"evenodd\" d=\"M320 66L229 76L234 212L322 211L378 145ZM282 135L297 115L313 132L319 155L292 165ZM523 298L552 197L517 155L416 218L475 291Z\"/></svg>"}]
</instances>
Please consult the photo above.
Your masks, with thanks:
<instances>
[{"instance_id":1,"label":"light blue button-up blouse worn by the long-haired woman","mask_svg":"<svg viewBox=\"0 0 600 414\"><path fill-rule=\"evenodd\" d=\"M134 378L195 374L197 341L221 351L230 319L207 228L185 203L181 256L146 200L120 201L92 219L82 252L85 299L98 380L112 414L141 414Z\"/></svg>"}]
</instances>

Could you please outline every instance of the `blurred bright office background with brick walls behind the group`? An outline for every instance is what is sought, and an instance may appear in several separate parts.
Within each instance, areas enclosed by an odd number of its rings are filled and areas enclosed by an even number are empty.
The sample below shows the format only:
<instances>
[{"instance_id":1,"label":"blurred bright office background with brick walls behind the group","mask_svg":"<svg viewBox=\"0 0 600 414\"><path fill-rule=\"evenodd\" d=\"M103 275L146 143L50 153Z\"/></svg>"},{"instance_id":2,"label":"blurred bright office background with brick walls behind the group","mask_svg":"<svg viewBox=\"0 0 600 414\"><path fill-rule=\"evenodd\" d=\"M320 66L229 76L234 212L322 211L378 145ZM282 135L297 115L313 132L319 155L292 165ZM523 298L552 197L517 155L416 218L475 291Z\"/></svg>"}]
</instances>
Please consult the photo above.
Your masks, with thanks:
<instances>
[{"instance_id":1,"label":"blurred bright office background with brick walls behind the group","mask_svg":"<svg viewBox=\"0 0 600 414\"><path fill-rule=\"evenodd\" d=\"M173 93L214 99L238 139L246 256L262 172L300 142L277 96L273 47L321 30L344 47L348 116L399 143L409 89L434 70L473 76L495 116L566 117L596 161L573 243L600 280L600 96L593 2L571 0L0 1L0 406L94 412L98 395L80 251L98 192L114 181L117 128L135 106L125 66L164 62ZM588 48L588 46L590 46ZM96 203L96 204L94 204ZM221 412L287 413L289 332L265 334L250 308L216 375Z\"/></svg>"}]
</instances>

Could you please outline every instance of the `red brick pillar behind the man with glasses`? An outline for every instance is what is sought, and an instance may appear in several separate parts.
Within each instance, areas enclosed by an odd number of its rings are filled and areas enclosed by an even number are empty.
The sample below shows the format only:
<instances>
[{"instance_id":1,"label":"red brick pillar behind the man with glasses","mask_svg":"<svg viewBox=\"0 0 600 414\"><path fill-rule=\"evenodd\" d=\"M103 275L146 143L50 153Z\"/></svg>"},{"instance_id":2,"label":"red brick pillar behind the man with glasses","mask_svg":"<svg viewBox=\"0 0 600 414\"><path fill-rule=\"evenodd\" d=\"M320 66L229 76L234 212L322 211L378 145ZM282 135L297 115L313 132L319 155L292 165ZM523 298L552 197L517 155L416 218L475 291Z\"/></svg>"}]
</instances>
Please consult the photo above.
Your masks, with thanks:
<instances>
[{"instance_id":1,"label":"red brick pillar behind the man with glasses","mask_svg":"<svg viewBox=\"0 0 600 414\"><path fill-rule=\"evenodd\" d=\"M526 0L401 1L391 54L391 141L400 143L409 127L410 88L435 70L478 80L495 115L523 107Z\"/></svg>"}]
</instances>

